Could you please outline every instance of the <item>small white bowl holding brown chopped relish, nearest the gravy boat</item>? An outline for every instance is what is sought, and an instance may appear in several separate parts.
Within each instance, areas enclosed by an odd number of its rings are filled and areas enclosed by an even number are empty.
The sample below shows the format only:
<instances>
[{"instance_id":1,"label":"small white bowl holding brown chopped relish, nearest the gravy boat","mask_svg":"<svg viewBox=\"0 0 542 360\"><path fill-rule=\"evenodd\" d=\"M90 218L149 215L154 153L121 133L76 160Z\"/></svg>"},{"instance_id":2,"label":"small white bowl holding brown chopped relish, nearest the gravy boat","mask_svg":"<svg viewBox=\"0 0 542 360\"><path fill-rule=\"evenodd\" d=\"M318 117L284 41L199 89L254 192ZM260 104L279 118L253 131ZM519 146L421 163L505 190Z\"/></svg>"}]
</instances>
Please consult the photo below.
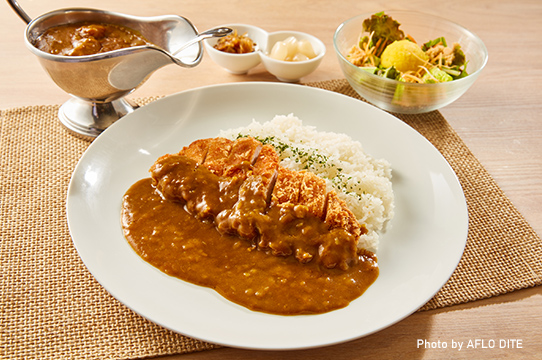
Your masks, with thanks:
<instances>
[{"instance_id":1,"label":"small white bowl holding brown chopped relish, nearest the gravy boat","mask_svg":"<svg viewBox=\"0 0 542 360\"><path fill-rule=\"evenodd\" d=\"M211 59L232 74L246 74L261 62L260 51L267 46L267 32L256 26L244 24L226 24L220 27L228 27L237 30L238 35L246 34L256 43L256 50L246 54L232 54L214 48L219 38L205 39L203 44Z\"/></svg>"}]
</instances>

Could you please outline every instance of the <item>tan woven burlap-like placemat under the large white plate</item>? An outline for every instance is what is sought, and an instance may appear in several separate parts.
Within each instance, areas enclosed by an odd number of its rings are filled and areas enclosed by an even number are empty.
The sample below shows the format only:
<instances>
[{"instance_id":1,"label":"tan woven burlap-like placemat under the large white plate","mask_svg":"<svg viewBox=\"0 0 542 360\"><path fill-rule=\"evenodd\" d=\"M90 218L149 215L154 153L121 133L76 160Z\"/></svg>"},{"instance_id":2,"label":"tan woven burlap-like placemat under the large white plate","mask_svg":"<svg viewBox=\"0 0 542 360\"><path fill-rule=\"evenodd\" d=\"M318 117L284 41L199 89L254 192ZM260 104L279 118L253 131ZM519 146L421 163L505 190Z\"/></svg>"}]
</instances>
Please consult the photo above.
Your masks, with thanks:
<instances>
[{"instance_id":1,"label":"tan woven burlap-like placemat under the large white plate","mask_svg":"<svg viewBox=\"0 0 542 360\"><path fill-rule=\"evenodd\" d=\"M344 80L307 85L359 98ZM135 314L85 268L68 232L65 197L89 143L68 134L57 112L31 106L0 114L0 358L131 359L217 348ZM541 284L540 237L442 115L398 117L448 160L470 215L458 268L420 310Z\"/></svg>"}]
</instances>

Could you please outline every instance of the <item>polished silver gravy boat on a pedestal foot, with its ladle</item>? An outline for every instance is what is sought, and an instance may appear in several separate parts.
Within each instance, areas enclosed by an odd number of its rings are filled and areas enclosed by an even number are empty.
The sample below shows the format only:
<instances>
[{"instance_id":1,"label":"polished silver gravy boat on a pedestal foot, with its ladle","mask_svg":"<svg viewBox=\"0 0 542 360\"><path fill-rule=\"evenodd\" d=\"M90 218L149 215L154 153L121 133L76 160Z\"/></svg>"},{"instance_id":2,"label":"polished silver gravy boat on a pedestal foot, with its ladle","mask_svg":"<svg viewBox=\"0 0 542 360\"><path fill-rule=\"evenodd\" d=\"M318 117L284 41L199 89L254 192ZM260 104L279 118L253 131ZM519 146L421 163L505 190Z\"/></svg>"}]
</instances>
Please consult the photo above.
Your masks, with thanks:
<instances>
[{"instance_id":1,"label":"polished silver gravy boat on a pedestal foot, with its ladle","mask_svg":"<svg viewBox=\"0 0 542 360\"><path fill-rule=\"evenodd\" d=\"M139 17L95 9L62 9L32 20L8 0L27 23L25 44L38 57L53 81L72 96L59 110L60 122L74 135L93 139L136 105L124 97L141 86L159 68L176 64L191 68L201 62L201 40L225 36L232 30L212 29L198 34L194 25L177 15ZM144 45L85 55L53 55L34 46L48 28L77 22L102 22L138 31L154 45Z\"/></svg>"}]
</instances>

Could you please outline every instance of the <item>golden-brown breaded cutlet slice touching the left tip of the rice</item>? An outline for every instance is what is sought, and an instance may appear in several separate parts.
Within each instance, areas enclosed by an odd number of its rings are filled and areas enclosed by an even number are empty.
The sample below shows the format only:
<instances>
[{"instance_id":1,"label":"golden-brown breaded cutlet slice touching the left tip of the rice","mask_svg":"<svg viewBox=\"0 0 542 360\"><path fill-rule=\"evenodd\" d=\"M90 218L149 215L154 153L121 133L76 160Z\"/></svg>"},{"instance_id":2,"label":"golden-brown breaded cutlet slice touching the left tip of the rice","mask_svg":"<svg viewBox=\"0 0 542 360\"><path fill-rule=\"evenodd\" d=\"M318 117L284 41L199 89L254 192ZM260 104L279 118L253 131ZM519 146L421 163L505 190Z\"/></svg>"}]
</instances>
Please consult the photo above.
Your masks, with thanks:
<instances>
[{"instance_id":1,"label":"golden-brown breaded cutlet slice touching the left tip of the rice","mask_svg":"<svg viewBox=\"0 0 542 360\"><path fill-rule=\"evenodd\" d=\"M253 137L243 137L233 142L230 154L226 159L222 176L244 176L252 169L258 158L262 143Z\"/></svg>"}]
</instances>

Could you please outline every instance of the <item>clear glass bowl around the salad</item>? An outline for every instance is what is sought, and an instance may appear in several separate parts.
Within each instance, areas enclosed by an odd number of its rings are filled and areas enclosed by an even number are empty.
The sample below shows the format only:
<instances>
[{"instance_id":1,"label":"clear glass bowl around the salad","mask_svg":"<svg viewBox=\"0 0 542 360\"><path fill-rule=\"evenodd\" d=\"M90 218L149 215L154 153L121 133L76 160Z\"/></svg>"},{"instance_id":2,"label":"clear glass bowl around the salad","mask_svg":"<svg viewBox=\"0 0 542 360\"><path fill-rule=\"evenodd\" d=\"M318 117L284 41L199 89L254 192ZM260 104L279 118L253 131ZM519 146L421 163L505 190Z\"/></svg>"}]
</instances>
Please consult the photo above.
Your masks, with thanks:
<instances>
[{"instance_id":1,"label":"clear glass bowl around the salad","mask_svg":"<svg viewBox=\"0 0 542 360\"><path fill-rule=\"evenodd\" d=\"M363 21L372 13L355 16L335 31L333 44L341 70L352 88L365 100L381 109L404 114L425 113L451 104L476 81L488 60L482 40L464 27L437 16L413 11L384 11L400 24L405 36L421 46L444 37L447 45L459 43L466 58L467 76L448 82L414 83L376 75L368 68L352 64L348 54L363 33Z\"/></svg>"}]
</instances>

